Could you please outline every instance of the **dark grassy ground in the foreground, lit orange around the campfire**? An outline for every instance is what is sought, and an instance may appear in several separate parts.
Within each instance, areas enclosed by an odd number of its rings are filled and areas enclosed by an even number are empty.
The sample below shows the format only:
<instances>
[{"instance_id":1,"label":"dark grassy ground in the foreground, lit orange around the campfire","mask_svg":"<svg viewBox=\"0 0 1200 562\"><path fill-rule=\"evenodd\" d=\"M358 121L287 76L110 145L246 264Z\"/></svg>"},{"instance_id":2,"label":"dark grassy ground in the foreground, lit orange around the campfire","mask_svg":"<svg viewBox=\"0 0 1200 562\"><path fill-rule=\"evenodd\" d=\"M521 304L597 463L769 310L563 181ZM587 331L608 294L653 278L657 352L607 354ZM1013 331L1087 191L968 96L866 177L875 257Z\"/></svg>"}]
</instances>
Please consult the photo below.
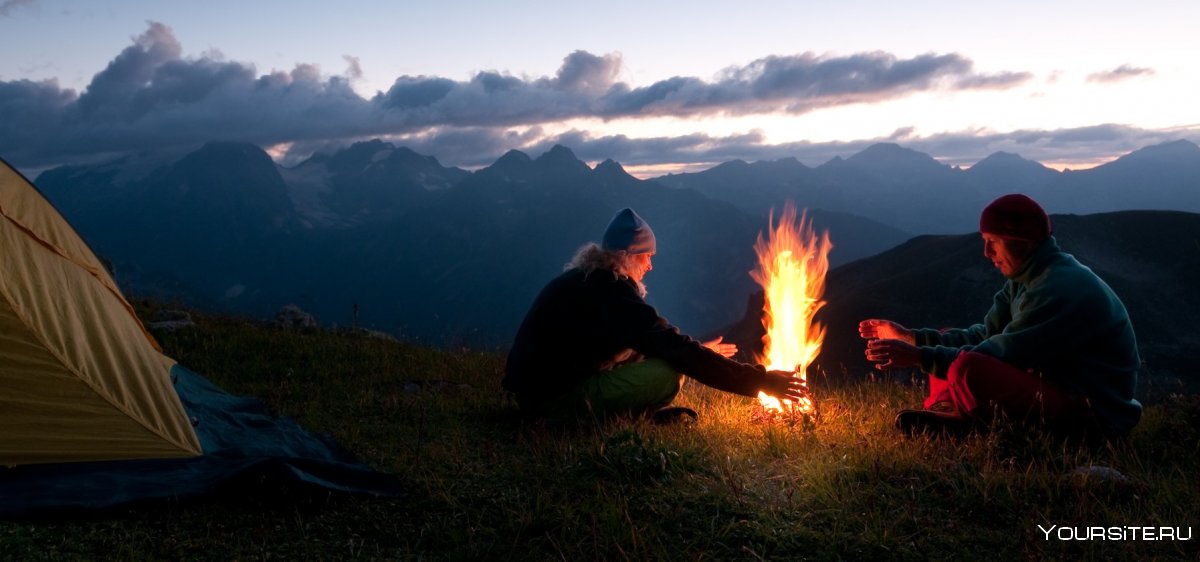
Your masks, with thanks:
<instances>
[{"instance_id":1,"label":"dark grassy ground in the foreground, lit orange around the campfire","mask_svg":"<svg viewBox=\"0 0 1200 562\"><path fill-rule=\"evenodd\" d=\"M197 317L166 351L235 394L332 434L402 500L230 491L76 521L0 522L2 560L1194 560L1200 540L1058 540L1060 527L1200 531L1200 400L1152 406L1085 449L996 428L906 438L918 389L815 389L811 424L754 422L690 382L692 426L522 423L504 359ZM1076 477L1104 466L1128 480ZM1086 532L1086 530L1084 530Z\"/></svg>"}]
</instances>

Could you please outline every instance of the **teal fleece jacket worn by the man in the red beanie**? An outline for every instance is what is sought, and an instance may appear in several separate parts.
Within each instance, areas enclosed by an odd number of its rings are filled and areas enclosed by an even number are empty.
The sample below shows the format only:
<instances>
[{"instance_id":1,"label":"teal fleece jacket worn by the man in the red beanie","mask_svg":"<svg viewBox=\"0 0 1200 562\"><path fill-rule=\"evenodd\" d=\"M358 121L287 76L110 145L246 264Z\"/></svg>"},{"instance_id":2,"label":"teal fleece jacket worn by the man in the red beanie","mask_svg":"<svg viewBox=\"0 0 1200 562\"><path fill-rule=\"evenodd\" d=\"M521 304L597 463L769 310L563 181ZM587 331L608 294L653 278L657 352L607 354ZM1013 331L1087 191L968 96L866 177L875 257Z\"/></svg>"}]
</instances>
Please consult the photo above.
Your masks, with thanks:
<instances>
[{"instance_id":1,"label":"teal fleece jacket worn by the man in the red beanie","mask_svg":"<svg viewBox=\"0 0 1200 562\"><path fill-rule=\"evenodd\" d=\"M925 372L946 378L959 353L986 353L1085 396L1108 429L1141 418L1138 341L1124 304L1051 237L1008 277L982 324L913 330Z\"/></svg>"}]
</instances>

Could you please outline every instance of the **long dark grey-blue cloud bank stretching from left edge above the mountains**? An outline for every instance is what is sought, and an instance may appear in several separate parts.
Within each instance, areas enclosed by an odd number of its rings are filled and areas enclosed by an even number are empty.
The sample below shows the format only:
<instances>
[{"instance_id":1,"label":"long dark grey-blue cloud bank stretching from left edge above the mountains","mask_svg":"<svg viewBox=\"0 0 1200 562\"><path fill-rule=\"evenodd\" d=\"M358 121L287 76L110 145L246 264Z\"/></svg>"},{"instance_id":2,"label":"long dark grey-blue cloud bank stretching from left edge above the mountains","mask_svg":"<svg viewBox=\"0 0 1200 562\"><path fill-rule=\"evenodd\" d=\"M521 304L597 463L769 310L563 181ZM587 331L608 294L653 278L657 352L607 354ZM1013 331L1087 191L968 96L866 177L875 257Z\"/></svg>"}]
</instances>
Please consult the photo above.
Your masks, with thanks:
<instances>
[{"instance_id":1,"label":"long dark grey-blue cloud bank stretching from left edge above the mountains","mask_svg":"<svg viewBox=\"0 0 1200 562\"><path fill-rule=\"evenodd\" d=\"M1003 88L1025 79L1020 73L978 74L956 54L899 59L876 52L768 56L726 68L712 80L672 77L631 88L617 80L619 54L577 50L553 76L402 76L367 100L350 86L361 78L358 59L346 61L342 76L323 77L312 65L259 74L220 53L185 58L172 29L150 23L82 94L53 80L0 82L0 131L8 133L0 137L0 154L18 165L40 166L212 139L304 145L368 136L443 138L452 130L528 130L574 118L798 113L930 89ZM498 139L506 136L496 133Z\"/></svg>"}]
</instances>

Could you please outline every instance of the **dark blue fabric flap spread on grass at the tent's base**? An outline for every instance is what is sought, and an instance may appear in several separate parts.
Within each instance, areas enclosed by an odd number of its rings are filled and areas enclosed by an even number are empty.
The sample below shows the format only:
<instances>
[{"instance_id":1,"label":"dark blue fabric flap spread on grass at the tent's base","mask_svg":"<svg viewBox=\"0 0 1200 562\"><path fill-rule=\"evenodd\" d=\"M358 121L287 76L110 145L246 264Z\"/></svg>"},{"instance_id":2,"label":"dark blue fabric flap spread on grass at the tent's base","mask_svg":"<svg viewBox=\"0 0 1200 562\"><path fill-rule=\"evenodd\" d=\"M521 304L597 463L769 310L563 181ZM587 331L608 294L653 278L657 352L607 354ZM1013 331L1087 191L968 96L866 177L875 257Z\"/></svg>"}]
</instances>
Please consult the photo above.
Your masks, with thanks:
<instances>
[{"instance_id":1,"label":"dark blue fabric flap spread on grass at the tent's base","mask_svg":"<svg viewBox=\"0 0 1200 562\"><path fill-rule=\"evenodd\" d=\"M271 414L259 400L230 395L180 365L170 375L203 455L0 467L0 518L191 500L236 486L272 488L265 484L404 495L396 476L372 470L332 438Z\"/></svg>"}]
</instances>

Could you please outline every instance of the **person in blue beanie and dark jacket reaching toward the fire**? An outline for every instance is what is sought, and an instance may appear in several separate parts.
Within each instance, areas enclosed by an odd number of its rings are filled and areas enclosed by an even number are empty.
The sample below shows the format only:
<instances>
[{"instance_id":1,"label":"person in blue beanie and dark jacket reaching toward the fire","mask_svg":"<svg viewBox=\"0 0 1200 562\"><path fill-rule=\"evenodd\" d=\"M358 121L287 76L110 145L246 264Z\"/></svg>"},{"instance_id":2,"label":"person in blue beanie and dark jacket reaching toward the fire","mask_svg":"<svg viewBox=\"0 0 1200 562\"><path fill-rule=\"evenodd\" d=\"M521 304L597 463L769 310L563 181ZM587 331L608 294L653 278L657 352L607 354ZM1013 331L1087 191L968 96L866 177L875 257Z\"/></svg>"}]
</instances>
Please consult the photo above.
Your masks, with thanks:
<instances>
[{"instance_id":1,"label":"person in blue beanie and dark jacket reaching toward the fire","mask_svg":"<svg viewBox=\"0 0 1200 562\"><path fill-rule=\"evenodd\" d=\"M660 316L643 285L656 251L646 220L622 209L600 244L583 245L541 289L517 330L503 379L523 412L560 420L672 419L664 414L686 409L668 407L683 375L743 396L804 395L791 372L734 361L736 346L720 339L701 343Z\"/></svg>"}]
</instances>

